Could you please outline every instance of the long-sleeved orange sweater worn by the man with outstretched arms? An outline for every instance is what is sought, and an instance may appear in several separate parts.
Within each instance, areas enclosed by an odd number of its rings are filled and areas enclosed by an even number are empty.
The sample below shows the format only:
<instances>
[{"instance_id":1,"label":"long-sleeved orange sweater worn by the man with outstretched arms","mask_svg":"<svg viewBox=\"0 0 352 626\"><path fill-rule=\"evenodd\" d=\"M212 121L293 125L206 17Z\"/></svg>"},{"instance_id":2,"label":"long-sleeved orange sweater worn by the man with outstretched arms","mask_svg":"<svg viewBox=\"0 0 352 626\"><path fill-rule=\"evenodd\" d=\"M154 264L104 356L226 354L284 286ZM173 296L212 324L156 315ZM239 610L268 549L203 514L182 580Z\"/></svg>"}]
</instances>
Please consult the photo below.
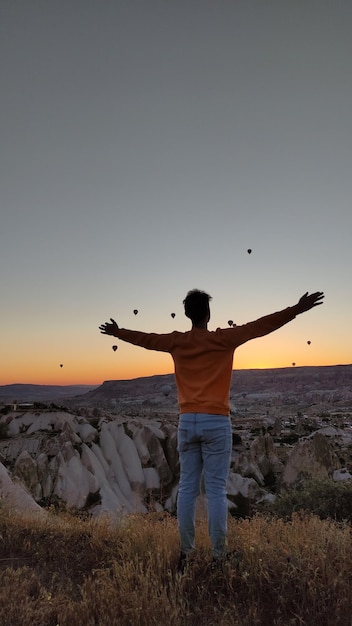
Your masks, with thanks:
<instances>
[{"instance_id":1,"label":"long-sleeved orange sweater worn by the man with outstretched arms","mask_svg":"<svg viewBox=\"0 0 352 626\"><path fill-rule=\"evenodd\" d=\"M296 307L231 328L192 328L181 333L143 333L119 328L115 336L147 350L169 352L174 360L181 413L228 415L235 349L280 328L296 316Z\"/></svg>"}]
</instances>

